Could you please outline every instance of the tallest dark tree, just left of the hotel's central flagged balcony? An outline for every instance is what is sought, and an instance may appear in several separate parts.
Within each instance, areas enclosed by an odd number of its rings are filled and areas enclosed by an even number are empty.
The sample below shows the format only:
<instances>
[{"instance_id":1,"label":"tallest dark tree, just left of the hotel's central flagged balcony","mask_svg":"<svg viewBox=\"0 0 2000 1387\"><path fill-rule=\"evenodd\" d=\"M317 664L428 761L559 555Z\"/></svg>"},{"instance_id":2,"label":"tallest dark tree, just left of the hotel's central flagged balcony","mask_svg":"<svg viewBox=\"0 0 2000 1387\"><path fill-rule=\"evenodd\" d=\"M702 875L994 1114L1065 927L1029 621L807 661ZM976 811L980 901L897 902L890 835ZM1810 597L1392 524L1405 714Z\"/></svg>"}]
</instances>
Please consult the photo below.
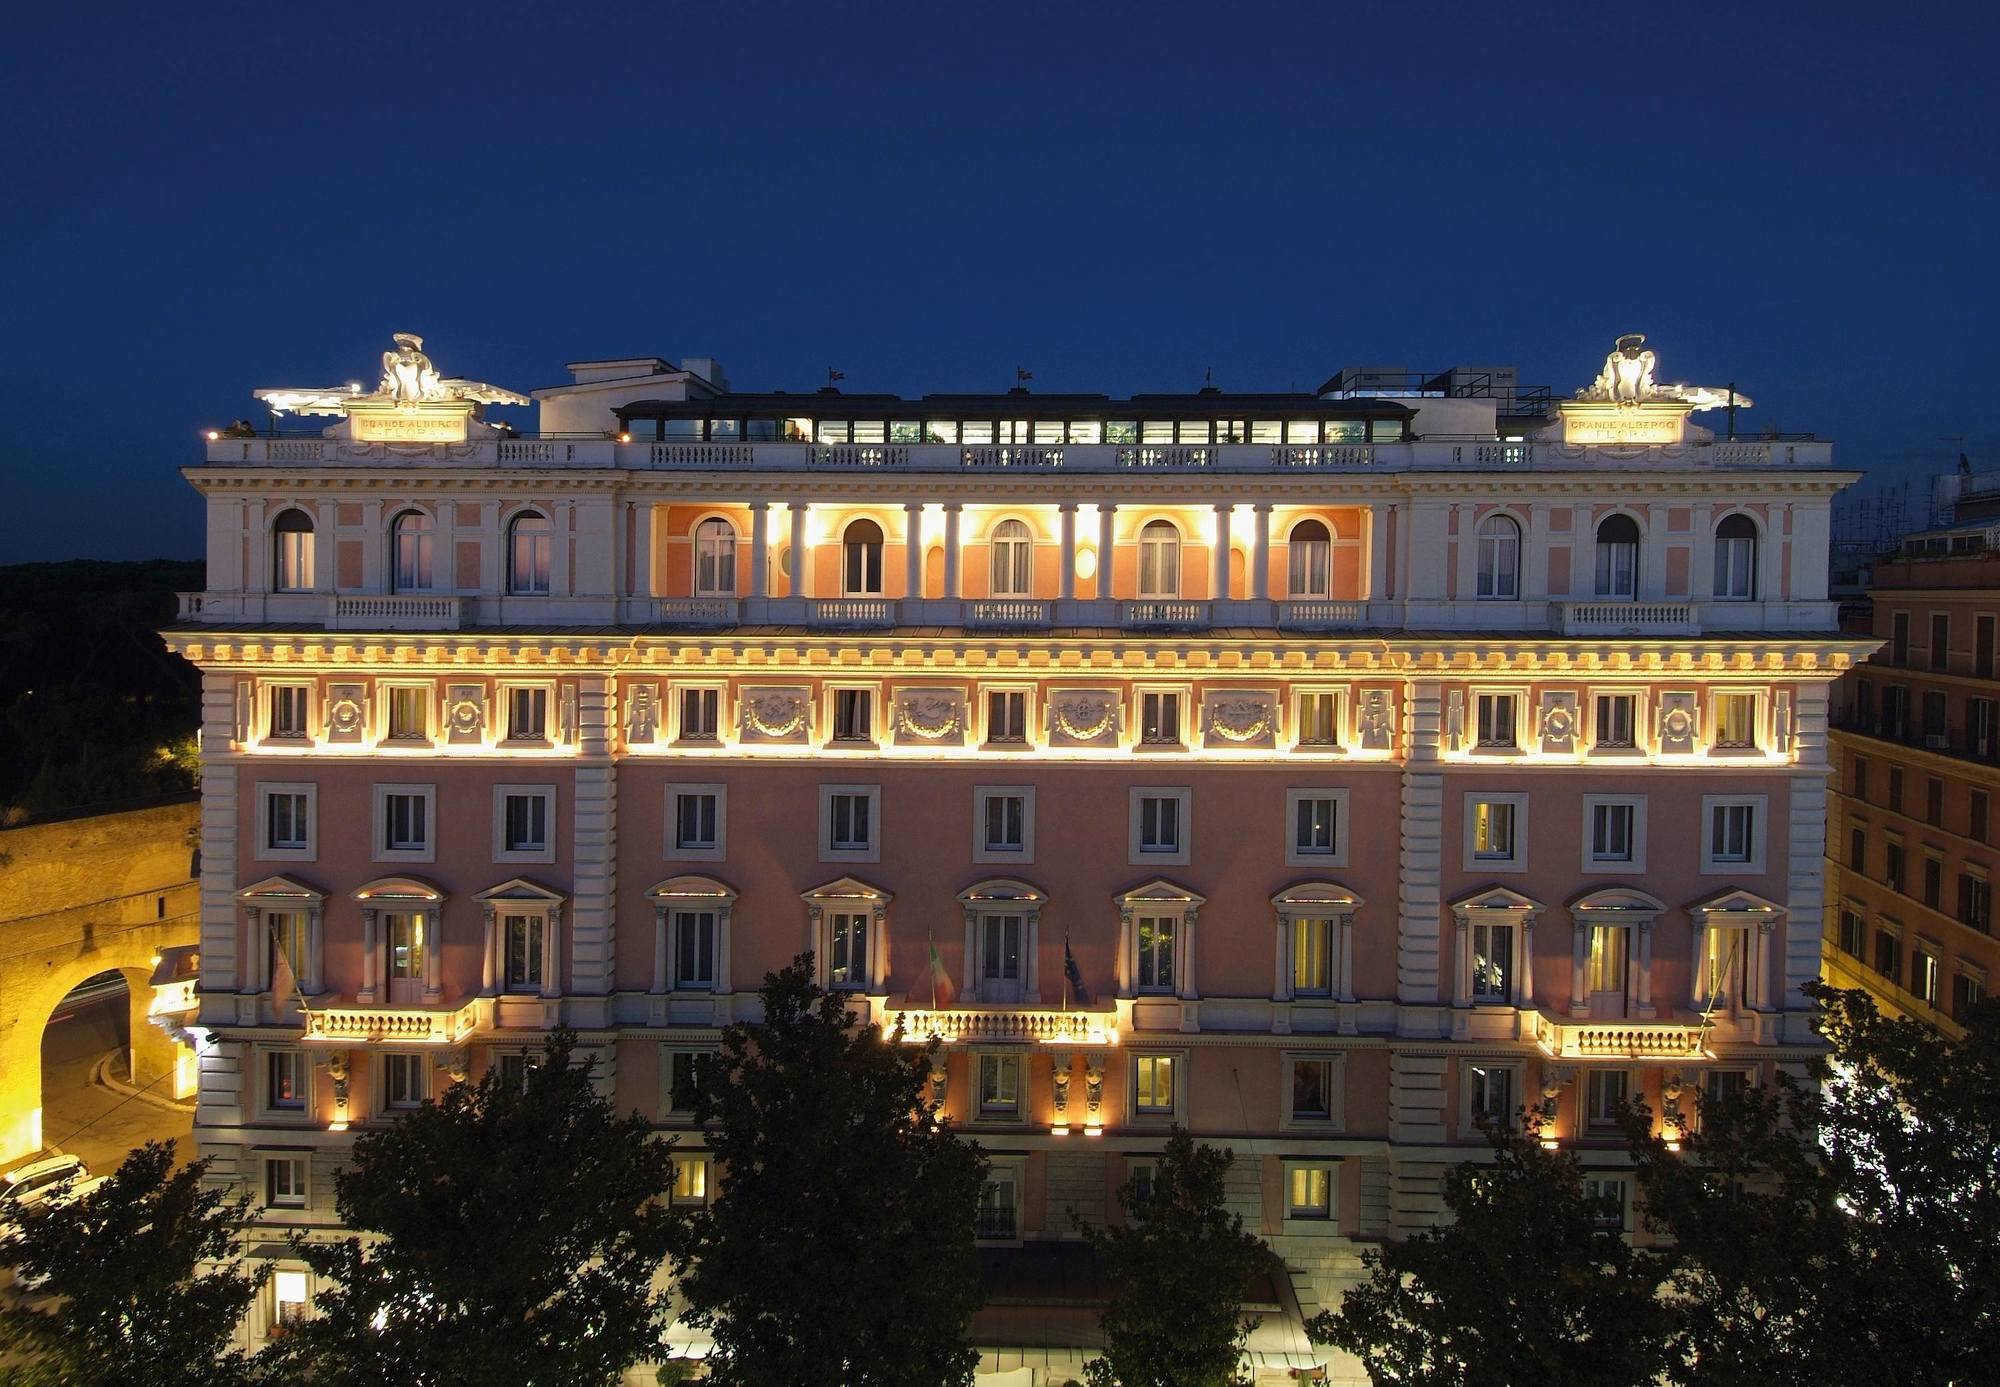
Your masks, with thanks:
<instances>
[{"instance_id":1,"label":"tallest dark tree, just left of the hotel's central flagged balcony","mask_svg":"<svg viewBox=\"0 0 2000 1387\"><path fill-rule=\"evenodd\" d=\"M764 1019L722 1031L694 1113L724 1177L686 1215L682 1319L726 1387L966 1383L986 1157L928 1099L930 1045L856 1023L812 955L766 973Z\"/></svg>"}]
</instances>

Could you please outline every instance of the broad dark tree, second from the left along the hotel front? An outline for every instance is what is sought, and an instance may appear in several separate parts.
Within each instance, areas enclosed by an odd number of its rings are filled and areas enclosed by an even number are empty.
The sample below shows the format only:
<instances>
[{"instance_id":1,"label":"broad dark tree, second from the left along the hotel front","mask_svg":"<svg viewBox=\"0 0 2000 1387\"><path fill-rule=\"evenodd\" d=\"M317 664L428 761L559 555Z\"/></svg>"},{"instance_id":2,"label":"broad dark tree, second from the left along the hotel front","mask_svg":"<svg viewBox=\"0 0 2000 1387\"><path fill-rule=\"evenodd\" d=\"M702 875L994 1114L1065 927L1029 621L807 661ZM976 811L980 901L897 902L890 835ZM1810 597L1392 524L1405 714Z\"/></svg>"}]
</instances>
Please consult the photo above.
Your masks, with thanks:
<instances>
[{"instance_id":1,"label":"broad dark tree, second from the left along the hotel front","mask_svg":"<svg viewBox=\"0 0 2000 1387\"><path fill-rule=\"evenodd\" d=\"M334 1205L368 1237L294 1237L326 1289L270 1351L282 1381L596 1387L658 1349L672 1143L574 1049L554 1031L524 1079L488 1069L356 1139Z\"/></svg>"}]
</instances>

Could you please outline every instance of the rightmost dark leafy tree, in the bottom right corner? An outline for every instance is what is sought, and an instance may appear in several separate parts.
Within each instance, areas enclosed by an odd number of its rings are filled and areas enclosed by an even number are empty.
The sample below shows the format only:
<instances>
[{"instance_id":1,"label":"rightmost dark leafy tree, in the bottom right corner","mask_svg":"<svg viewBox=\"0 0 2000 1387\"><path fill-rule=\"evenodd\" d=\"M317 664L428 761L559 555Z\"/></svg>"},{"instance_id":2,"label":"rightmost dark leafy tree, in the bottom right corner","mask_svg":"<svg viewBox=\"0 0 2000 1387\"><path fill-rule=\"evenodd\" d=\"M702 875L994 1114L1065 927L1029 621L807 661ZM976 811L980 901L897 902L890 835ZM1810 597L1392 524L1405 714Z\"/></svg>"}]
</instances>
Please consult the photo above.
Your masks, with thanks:
<instances>
[{"instance_id":1,"label":"rightmost dark leafy tree, in the bottom right corner","mask_svg":"<svg viewBox=\"0 0 2000 1387\"><path fill-rule=\"evenodd\" d=\"M2000 1329L2000 1007L1952 1041L1818 983L1814 1083L1710 1099L1684 1153L1640 1115L1672 1237L1674 1381L1970 1383Z\"/></svg>"}]
</instances>

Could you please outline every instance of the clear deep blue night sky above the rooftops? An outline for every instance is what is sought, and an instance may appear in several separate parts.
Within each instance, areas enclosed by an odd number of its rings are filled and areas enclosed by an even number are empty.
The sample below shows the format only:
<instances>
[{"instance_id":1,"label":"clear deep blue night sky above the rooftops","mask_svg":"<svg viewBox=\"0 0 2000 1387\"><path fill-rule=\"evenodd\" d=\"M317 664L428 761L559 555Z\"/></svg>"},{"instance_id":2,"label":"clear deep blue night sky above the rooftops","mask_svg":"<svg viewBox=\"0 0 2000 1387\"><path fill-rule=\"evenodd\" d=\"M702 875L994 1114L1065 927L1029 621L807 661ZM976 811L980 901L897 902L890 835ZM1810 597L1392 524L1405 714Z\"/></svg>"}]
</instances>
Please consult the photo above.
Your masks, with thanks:
<instances>
[{"instance_id":1,"label":"clear deep blue night sky above the rooftops","mask_svg":"<svg viewBox=\"0 0 2000 1387\"><path fill-rule=\"evenodd\" d=\"M1746 428L2000 466L1992 6L306 10L4 22L0 562L198 554L196 430L390 332L518 390L1568 392L1640 330Z\"/></svg>"}]
</instances>

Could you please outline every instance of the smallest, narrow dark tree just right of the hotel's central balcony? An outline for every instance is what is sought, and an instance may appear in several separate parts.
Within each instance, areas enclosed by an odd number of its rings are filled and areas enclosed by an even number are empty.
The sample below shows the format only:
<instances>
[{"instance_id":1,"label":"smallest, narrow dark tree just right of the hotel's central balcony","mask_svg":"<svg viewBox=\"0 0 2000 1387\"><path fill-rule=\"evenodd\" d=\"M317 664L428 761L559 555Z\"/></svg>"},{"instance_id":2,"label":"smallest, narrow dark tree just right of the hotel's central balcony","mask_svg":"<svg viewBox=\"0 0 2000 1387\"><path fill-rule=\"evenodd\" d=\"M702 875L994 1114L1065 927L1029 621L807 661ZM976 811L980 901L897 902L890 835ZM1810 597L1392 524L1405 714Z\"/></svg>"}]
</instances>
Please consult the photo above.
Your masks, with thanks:
<instances>
[{"instance_id":1,"label":"smallest, narrow dark tree just right of the hotel's central balcony","mask_svg":"<svg viewBox=\"0 0 2000 1387\"><path fill-rule=\"evenodd\" d=\"M1244 1283L1272 1253L1228 1209L1224 1179L1236 1153L1198 1145L1174 1127L1152 1187L1118 1189L1126 1225L1078 1219L1118 1285L1104 1309L1104 1357L1084 1365L1090 1387L1226 1387L1238 1381L1252 1319Z\"/></svg>"}]
</instances>

